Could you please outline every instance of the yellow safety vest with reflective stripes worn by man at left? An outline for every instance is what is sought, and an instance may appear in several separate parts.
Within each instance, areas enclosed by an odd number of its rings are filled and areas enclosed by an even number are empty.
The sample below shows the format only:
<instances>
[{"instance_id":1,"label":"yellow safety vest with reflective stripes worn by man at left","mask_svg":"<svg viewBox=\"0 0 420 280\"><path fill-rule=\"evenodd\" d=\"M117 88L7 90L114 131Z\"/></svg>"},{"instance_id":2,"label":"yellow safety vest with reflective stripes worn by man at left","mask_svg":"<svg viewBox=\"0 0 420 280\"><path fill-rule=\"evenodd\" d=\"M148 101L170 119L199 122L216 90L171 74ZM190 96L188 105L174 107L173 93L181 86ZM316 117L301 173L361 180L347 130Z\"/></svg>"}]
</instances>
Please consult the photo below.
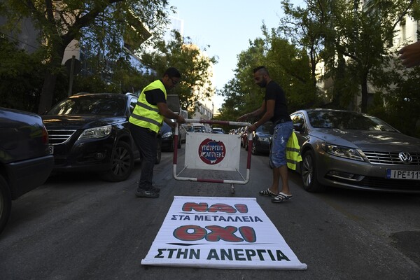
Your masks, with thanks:
<instances>
[{"instance_id":1,"label":"yellow safety vest with reflective stripes worn by man at left","mask_svg":"<svg viewBox=\"0 0 420 280\"><path fill-rule=\"evenodd\" d=\"M167 99L165 85L163 85L161 80L155 80L153 83L144 87L144 90L141 92L139 99L137 99L136 107L134 108L134 111L128 121L134 125L145 127L158 133L165 116L160 115L157 105L152 105L147 102L146 94L144 94L144 92L155 89L162 90L162 92L165 93L165 99Z\"/></svg>"}]
</instances>

